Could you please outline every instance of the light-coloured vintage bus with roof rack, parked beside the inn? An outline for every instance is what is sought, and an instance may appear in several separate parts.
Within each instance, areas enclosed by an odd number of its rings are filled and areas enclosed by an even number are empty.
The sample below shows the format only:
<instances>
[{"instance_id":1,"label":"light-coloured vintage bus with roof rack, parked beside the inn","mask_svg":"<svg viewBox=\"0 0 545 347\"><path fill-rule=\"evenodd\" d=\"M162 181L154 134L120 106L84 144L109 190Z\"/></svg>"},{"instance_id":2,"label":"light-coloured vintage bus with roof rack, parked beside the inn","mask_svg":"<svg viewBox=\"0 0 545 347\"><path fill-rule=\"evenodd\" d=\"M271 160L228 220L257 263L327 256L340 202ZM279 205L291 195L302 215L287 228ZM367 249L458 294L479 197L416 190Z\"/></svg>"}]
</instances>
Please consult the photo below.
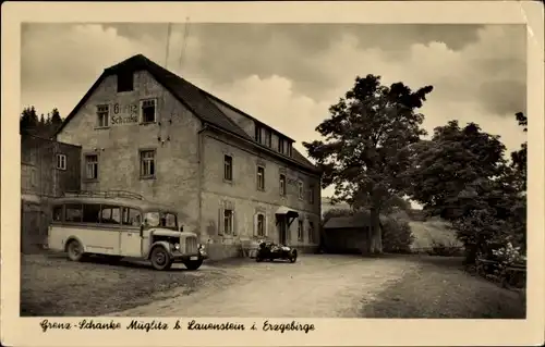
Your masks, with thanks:
<instances>
[{"instance_id":1,"label":"light-coloured vintage bus with roof rack, parked beside the inn","mask_svg":"<svg viewBox=\"0 0 545 347\"><path fill-rule=\"evenodd\" d=\"M68 193L51 203L48 248L63 251L72 261L89 255L116 260L140 258L156 270L173 262L197 270L207 258L197 235L184 232L170 207L121 191Z\"/></svg>"}]
</instances>

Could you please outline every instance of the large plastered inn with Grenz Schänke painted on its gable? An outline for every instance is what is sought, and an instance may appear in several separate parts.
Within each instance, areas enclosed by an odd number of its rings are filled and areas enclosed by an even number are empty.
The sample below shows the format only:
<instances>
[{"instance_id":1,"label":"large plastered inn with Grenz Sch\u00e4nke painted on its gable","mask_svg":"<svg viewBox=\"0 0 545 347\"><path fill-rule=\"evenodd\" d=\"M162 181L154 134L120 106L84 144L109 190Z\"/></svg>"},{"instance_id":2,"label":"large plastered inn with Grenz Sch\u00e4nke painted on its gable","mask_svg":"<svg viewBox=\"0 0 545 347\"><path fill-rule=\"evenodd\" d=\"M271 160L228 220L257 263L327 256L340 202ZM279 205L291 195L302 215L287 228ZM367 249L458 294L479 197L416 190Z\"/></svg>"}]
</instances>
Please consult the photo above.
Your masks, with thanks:
<instances>
[{"instance_id":1,"label":"large plastered inn with Grenz Sch\u00e4nke painted on its gable","mask_svg":"<svg viewBox=\"0 0 545 347\"><path fill-rule=\"evenodd\" d=\"M82 188L178 209L210 258L267 236L317 247L320 172L294 140L142 54L104 71L57 133L82 147Z\"/></svg>"}]
</instances>

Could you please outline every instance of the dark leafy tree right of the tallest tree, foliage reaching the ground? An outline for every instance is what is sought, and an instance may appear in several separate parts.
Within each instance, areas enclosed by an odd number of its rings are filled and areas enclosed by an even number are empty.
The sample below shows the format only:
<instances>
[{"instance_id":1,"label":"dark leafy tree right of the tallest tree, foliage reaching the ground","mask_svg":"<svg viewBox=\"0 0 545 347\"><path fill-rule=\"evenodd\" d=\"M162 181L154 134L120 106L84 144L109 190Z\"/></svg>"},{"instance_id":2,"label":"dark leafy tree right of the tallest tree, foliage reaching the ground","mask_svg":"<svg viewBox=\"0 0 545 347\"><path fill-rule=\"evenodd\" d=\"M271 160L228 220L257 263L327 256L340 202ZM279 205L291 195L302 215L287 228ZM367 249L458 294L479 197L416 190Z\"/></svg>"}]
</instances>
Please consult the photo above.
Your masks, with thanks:
<instances>
[{"instance_id":1,"label":"dark leafy tree right of the tallest tree, foliage reaching the ground","mask_svg":"<svg viewBox=\"0 0 545 347\"><path fill-rule=\"evenodd\" d=\"M475 123L437 127L431 141L411 152L410 195L432 215L452 222L468 250L467 262L507 234L520 237L521 196L499 136Z\"/></svg>"}]
</instances>

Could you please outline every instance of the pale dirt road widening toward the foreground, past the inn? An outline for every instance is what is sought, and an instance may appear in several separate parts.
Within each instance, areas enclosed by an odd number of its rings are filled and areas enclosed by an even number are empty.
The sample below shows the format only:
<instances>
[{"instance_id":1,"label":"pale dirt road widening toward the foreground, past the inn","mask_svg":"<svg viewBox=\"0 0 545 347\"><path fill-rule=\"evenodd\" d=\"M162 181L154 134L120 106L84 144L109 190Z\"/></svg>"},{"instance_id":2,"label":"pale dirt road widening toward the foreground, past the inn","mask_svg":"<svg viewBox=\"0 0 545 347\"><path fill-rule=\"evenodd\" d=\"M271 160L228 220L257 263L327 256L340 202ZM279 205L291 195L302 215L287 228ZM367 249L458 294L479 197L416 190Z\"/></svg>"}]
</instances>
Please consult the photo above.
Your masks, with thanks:
<instances>
[{"instance_id":1,"label":"pale dirt road widening toward the foreground, past the inn","mask_svg":"<svg viewBox=\"0 0 545 347\"><path fill-rule=\"evenodd\" d=\"M293 264L203 265L199 272L225 273L190 295L110 315L358 318L386 282L415 267L402 259L332 255L304 255Z\"/></svg>"}]
</instances>

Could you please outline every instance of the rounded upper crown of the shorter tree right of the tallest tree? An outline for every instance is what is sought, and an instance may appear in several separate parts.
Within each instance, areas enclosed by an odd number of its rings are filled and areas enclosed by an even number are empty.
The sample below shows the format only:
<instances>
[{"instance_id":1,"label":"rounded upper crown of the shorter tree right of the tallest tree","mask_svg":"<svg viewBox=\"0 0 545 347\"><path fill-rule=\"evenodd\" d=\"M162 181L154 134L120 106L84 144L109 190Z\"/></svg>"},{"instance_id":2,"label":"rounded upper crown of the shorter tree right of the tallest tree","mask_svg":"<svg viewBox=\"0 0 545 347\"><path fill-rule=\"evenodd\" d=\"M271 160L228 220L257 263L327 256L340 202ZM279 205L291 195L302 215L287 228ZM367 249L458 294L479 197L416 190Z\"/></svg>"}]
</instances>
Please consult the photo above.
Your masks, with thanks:
<instances>
[{"instance_id":1,"label":"rounded upper crown of the shorter tree right of the tallest tree","mask_svg":"<svg viewBox=\"0 0 545 347\"><path fill-rule=\"evenodd\" d=\"M458 121L436 127L431 141L412 148L413 165L405 173L410 195L431 215L456 220L476 202L483 184L505 173L506 147L499 136L481 131L475 123Z\"/></svg>"}]
</instances>

